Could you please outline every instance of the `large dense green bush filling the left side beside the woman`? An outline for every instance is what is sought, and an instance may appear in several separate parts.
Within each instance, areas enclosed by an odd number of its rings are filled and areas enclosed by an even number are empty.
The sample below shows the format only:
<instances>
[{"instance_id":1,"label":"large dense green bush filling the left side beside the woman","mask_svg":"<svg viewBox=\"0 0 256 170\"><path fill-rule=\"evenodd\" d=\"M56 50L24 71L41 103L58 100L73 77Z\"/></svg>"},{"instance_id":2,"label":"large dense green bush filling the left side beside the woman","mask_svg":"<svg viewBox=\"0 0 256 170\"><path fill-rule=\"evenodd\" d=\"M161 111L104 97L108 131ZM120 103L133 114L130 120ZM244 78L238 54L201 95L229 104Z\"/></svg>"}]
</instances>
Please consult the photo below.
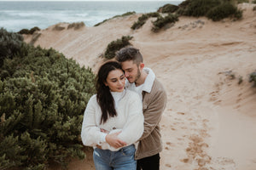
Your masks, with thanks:
<instances>
[{"instance_id":1,"label":"large dense green bush filling the left side beside the woman","mask_svg":"<svg viewBox=\"0 0 256 170\"><path fill-rule=\"evenodd\" d=\"M84 158L81 123L95 75L52 48L23 44L5 46L15 55L0 67L0 169L65 167L71 157Z\"/></svg>"}]
</instances>

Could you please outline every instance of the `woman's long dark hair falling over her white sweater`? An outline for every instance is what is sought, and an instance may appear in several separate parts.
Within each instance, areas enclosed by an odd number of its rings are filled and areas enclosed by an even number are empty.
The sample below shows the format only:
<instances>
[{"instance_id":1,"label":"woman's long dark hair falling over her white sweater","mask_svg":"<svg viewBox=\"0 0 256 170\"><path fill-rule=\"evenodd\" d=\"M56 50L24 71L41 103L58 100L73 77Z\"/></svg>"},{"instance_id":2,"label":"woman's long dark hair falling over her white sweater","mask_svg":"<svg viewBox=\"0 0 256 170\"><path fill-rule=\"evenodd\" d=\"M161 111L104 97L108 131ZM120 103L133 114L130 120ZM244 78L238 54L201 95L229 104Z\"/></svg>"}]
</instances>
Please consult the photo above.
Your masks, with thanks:
<instances>
[{"instance_id":1,"label":"woman's long dark hair falling over her white sweater","mask_svg":"<svg viewBox=\"0 0 256 170\"><path fill-rule=\"evenodd\" d=\"M114 109L113 96L108 86L104 83L107 82L108 73L114 70L123 71L118 62L108 61L100 67L96 76L96 99L102 110L101 123L107 122L108 117L117 116L117 112Z\"/></svg>"}]
</instances>

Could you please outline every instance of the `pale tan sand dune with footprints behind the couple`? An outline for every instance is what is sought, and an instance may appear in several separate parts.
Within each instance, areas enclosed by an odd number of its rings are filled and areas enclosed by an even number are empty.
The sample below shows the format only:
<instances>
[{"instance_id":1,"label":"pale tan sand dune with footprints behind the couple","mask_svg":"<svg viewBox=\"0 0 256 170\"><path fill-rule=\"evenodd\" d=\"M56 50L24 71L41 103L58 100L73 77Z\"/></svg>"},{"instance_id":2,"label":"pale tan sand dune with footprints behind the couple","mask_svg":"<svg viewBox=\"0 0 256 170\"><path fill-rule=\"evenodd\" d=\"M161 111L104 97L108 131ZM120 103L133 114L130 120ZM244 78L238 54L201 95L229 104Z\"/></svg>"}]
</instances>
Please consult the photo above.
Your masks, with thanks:
<instances>
[{"instance_id":1,"label":"pale tan sand dune with footprints behind the couple","mask_svg":"<svg viewBox=\"0 0 256 170\"><path fill-rule=\"evenodd\" d=\"M108 20L101 26L67 29L67 23L26 36L26 42L55 48L79 65L96 71L108 43L132 36L146 66L166 87L168 102L161 120L164 150L161 170L255 170L256 89L248 75L256 69L255 4L243 3L242 20L213 22L180 17L174 26L150 31L131 26L141 14ZM55 31L56 26L65 29ZM238 84L243 80L241 84ZM87 159L69 169L94 169ZM52 167L51 169L57 169Z\"/></svg>"}]
</instances>

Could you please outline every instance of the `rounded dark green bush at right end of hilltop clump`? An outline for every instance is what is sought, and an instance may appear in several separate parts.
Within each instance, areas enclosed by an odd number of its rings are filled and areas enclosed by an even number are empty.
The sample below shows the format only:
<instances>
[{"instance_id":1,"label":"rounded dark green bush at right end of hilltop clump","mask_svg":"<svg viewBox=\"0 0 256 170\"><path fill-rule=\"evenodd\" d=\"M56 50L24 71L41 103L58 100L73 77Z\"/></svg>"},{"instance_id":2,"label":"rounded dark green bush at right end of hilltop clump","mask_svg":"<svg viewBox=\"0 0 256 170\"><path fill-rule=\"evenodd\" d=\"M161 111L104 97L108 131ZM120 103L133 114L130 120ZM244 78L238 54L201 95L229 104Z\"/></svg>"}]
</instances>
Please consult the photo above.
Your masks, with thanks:
<instances>
[{"instance_id":1,"label":"rounded dark green bush at right end of hilltop clump","mask_svg":"<svg viewBox=\"0 0 256 170\"><path fill-rule=\"evenodd\" d=\"M207 18L213 21L222 20L229 16L234 16L236 19L241 19L241 10L238 10L235 6L230 3L222 3L215 8L212 8L207 13Z\"/></svg>"}]
</instances>

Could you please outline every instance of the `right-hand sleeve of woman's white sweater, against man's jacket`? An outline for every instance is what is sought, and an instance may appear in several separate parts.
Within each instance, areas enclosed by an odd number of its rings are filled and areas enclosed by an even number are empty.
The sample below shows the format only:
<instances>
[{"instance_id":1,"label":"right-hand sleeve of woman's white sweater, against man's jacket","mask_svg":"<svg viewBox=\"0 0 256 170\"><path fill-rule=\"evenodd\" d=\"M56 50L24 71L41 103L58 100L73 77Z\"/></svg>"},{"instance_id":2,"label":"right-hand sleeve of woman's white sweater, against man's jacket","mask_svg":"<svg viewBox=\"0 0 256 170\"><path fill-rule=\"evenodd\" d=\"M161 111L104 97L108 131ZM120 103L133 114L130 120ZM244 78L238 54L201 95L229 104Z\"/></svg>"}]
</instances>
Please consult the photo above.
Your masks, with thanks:
<instances>
[{"instance_id":1,"label":"right-hand sleeve of woman's white sweater, against man's jacket","mask_svg":"<svg viewBox=\"0 0 256 170\"><path fill-rule=\"evenodd\" d=\"M129 96L128 115L122 132L119 133L119 139L126 144L134 144L143 135L143 104L138 94L133 93Z\"/></svg>"}]
</instances>

